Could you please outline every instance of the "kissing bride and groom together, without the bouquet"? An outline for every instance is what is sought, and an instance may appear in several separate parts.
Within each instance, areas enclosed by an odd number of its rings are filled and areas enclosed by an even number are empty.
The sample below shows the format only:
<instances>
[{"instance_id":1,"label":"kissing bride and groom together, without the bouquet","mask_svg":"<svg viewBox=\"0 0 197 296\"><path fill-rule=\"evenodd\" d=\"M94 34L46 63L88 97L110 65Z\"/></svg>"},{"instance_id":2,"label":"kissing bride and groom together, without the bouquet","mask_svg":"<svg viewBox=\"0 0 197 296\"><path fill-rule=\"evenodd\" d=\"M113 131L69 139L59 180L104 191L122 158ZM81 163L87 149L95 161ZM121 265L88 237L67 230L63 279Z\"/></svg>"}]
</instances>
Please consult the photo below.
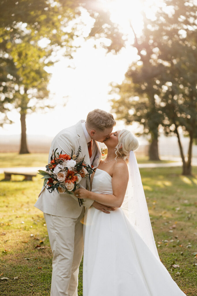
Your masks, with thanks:
<instances>
[{"instance_id":1,"label":"kissing bride and groom together, without the bouquet","mask_svg":"<svg viewBox=\"0 0 197 296\"><path fill-rule=\"evenodd\" d=\"M94 173L82 178L75 196L43 186L35 204L44 213L53 253L51 296L78 295L83 250L83 296L183 296L154 242L133 152L138 140L126 129L112 133L114 126L112 114L95 109L52 141L48 163L53 150L71 155L81 146ZM104 160L97 142L108 148Z\"/></svg>"}]
</instances>

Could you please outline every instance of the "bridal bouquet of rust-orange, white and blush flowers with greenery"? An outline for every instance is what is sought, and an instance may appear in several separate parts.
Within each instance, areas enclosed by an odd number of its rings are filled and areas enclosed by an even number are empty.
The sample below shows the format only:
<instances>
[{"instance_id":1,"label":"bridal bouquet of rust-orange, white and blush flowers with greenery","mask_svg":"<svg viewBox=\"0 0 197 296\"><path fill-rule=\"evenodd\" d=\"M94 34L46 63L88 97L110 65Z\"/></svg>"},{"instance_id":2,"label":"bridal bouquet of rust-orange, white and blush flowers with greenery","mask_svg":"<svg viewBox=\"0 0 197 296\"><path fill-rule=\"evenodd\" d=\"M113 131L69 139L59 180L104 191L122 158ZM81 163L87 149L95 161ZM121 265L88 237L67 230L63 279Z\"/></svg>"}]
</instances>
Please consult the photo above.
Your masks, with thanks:
<instances>
[{"instance_id":1,"label":"bridal bouquet of rust-orange, white and blush flowers with greenery","mask_svg":"<svg viewBox=\"0 0 197 296\"><path fill-rule=\"evenodd\" d=\"M84 162L84 157L79 157L81 147L75 154L60 154L57 149L51 155L51 162L46 165L46 170L39 170L43 176L44 186L53 192L73 194L75 189L80 188L79 182L82 178L89 178L93 169ZM83 205L83 200L79 199L79 205Z\"/></svg>"}]
</instances>

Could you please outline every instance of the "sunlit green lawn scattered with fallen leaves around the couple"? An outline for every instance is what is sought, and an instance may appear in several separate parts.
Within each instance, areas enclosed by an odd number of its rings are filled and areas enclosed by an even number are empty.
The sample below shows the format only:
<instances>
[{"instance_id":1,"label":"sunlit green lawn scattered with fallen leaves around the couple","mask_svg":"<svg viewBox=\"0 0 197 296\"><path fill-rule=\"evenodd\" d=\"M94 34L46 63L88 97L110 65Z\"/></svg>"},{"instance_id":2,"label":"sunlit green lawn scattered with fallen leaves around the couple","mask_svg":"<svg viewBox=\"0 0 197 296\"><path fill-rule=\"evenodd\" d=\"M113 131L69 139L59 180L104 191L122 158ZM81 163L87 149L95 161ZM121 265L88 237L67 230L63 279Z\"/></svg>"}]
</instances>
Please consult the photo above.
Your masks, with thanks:
<instances>
[{"instance_id":1,"label":"sunlit green lawn scattered with fallen leaves around the couple","mask_svg":"<svg viewBox=\"0 0 197 296\"><path fill-rule=\"evenodd\" d=\"M31 164L45 165L41 160ZM192 177L181 176L181 168L140 171L162 263L186 295L196 296L197 168ZM8 278L0 280L0 296L50 295L52 253L43 214L33 207L43 184L40 177L22 181L22 176L13 176L12 181L2 181L4 175L0 175L0 278Z\"/></svg>"}]
</instances>

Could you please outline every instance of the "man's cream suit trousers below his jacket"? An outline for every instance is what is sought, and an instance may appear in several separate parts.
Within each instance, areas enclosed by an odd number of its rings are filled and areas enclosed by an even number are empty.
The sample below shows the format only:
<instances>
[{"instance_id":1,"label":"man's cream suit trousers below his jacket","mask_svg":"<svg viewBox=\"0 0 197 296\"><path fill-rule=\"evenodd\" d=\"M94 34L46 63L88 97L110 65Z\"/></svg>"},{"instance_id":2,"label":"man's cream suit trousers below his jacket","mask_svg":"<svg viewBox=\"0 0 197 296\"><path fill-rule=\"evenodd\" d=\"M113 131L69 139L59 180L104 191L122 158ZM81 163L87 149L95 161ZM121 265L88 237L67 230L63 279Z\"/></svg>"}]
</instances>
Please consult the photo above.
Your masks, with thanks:
<instances>
[{"instance_id":1,"label":"man's cream suit trousers below his jacket","mask_svg":"<svg viewBox=\"0 0 197 296\"><path fill-rule=\"evenodd\" d=\"M83 207L84 208L84 207ZM84 209L78 218L44 213L53 253L51 296L77 296L79 265L83 255Z\"/></svg>"}]
</instances>

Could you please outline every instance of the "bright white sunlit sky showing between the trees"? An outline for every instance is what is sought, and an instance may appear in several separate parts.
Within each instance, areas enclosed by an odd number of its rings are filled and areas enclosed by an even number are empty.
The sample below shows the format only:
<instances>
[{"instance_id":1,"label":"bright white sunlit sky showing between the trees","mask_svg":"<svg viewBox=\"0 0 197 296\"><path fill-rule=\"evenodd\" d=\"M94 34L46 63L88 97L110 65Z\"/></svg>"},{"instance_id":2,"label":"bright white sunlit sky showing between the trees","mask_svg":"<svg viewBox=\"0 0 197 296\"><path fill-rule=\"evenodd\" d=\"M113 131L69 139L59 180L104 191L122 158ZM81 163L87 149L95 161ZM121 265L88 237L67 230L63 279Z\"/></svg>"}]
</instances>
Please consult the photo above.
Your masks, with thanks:
<instances>
[{"instance_id":1,"label":"bright white sunlit sky showing between the trees","mask_svg":"<svg viewBox=\"0 0 197 296\"><path fill-rule=\"evenodd\" d=\"M121 25L122 30L128 35L126 48L114 55L106 54L103 48L94 48L94 41L84 38L76 40L80 48L74 53L74 59L69 61L60 57L60 61L51 67L52 73L48 89L50 97L55 102L55 108L47 113L32 113L27 115L27 134L43 134L53 136L61 129L71 126L80 119L86 119L87 113L95 108L110 112L108 94L109 84L114 81L121 83L129 64L137 58L136 50L131 46L133 33L129 27L131 21L134 30L140 34L142 29L141 1L134 0L101 0L105 9L109 9L111 20ZM160 0L147 1L147 14L154 17ZM149 8L150 7L150 8ZM90 30L91 20L87 13L82 13L83 21L87 23L86 30ZM87 32L84 30L84 36ZM68 67L72 65L72 67ZM66 103L65 106L63 106ZM12 125L0 128L0 134L20 134L20 115L17 111L9 113L9 118L14 121ZM46 124L47 123L47 124ZM48 128L46 128L48 126ZM116 128L122 128L119 122Z\"/></svg>"}]
</instances>

